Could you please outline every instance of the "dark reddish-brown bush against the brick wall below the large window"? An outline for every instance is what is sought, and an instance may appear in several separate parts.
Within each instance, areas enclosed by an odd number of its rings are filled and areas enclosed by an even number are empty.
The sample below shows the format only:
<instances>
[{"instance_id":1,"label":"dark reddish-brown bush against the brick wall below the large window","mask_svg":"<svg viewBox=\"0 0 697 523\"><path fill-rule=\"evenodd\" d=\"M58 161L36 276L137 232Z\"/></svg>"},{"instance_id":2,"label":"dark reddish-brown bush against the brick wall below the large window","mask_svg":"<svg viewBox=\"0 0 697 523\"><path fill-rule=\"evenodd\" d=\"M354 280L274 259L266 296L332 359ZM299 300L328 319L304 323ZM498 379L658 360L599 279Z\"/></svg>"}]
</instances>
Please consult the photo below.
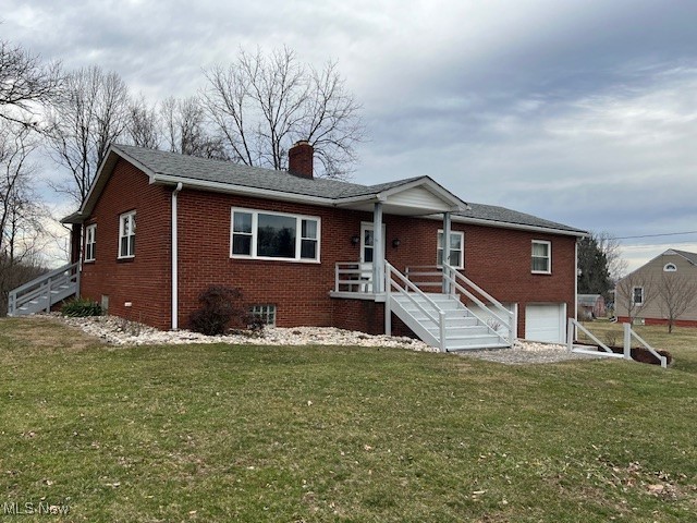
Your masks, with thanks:
<instances>
[{"instance_id":1,"label":"dark reddish-brown bush against the brick wall below the large window","mask_svg":"<svg viewBox=\"0 0 697 523\"><path fill-rule=\"evenodd\" d=\"M189 316L192 330L201 335L222 335L231 327L247 328L252 318L240 306L242 292L224 285L209 285L198 296L200 307Z\"/></svg>"}]
</instances>

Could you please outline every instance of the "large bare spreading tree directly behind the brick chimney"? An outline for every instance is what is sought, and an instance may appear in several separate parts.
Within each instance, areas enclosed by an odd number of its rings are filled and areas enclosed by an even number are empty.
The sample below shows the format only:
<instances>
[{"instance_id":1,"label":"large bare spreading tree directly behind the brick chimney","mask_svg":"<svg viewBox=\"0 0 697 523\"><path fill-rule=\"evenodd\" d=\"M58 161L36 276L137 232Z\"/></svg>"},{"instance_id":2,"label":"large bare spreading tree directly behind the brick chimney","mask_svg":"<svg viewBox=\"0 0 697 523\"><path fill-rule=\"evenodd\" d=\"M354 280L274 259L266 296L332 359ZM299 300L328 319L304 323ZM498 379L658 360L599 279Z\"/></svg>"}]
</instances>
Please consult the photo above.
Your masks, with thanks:
<instances>
[{"instance_id":1,"label":"large bare spreading tree directly behind the brick chimney","mask_svg":"<svg viewBox=\"0 0 697 523\"><path fill-rule=\"evenodd\" d=\"M265 56L240 51L228 68L206 72L204 104L233 160L288 168L288 149L306 139L329 178L345 177L364 137L360 106L346 90L337 64L322 71L299 63L288 48Z\"/></svg>"}]
</instances>

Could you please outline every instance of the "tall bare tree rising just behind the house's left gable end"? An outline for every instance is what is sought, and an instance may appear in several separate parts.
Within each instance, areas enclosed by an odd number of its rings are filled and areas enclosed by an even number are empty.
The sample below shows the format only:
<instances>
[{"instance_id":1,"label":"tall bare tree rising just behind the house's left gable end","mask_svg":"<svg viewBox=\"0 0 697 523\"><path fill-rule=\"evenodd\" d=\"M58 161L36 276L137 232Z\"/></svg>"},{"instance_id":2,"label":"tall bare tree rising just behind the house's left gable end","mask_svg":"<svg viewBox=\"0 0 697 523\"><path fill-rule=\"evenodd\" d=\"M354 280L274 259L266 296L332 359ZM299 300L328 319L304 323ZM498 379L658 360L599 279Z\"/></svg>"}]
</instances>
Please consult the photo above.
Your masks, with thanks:
<instances>
[{"instance_id":1,"label":"tall bare tree rising just behind the house's left gable end","mask_svg":"<svg viewBox=\"0 0 697 523\"><path fill-rule=\"evenodd\" d=\"M114 72L90 66L68 75L65 94L49 118L48 142L71 179L53 183L56 190L78 204L85 200L109 144L127 125L129 102L129 88Z\"/></svg>"}]
</instances>

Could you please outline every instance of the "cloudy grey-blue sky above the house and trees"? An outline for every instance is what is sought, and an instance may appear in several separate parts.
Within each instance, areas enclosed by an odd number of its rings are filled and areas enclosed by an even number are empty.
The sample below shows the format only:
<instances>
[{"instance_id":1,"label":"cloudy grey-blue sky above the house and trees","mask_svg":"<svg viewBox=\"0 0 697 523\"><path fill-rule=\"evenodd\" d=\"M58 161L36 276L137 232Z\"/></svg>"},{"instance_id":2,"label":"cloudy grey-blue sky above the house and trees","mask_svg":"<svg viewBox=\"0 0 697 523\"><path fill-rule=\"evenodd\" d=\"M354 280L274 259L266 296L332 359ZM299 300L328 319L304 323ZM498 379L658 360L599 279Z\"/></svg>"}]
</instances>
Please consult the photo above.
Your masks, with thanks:
<instances>
[{"instance_id":1,"label":"cloudy grey-blue sky above the house and trees","mask_svg":"<svg viewBox=\"0 0 697 523\"><path fill-rule=\"evenodd\" d=\"M0 16L1 38L151 100L195 94L241 46L337 60L369 135L355 182L428 174L608 231L631 268L697 252L694 0L0 0Z\"/></svg>"}]
</instances>

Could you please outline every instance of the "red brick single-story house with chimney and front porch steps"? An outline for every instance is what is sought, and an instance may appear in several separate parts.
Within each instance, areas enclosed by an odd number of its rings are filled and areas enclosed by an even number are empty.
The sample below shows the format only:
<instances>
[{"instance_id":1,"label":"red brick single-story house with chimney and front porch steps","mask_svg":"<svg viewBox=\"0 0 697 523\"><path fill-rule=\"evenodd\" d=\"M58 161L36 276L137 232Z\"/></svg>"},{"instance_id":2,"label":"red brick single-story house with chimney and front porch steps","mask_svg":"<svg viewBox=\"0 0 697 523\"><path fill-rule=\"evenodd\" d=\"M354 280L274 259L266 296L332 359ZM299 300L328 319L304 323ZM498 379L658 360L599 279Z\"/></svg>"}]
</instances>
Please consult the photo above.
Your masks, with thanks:
<instances>
[{"instance_id":1,"label":"red brick single-story house with chimney and front porch steps","mask_svg":"<svg viewBox=\"0 0 697 523\"><path fill-rule=\"evenodd\" d=\"M198 294L222 283L279 327L411 329L443 350L564 340L584 231L467 204L429 177L314 179L306 142L289 159L279 172L111 146L63 220L80 293L160 329L186 327Z\"/></svg>"}]
</instances>

